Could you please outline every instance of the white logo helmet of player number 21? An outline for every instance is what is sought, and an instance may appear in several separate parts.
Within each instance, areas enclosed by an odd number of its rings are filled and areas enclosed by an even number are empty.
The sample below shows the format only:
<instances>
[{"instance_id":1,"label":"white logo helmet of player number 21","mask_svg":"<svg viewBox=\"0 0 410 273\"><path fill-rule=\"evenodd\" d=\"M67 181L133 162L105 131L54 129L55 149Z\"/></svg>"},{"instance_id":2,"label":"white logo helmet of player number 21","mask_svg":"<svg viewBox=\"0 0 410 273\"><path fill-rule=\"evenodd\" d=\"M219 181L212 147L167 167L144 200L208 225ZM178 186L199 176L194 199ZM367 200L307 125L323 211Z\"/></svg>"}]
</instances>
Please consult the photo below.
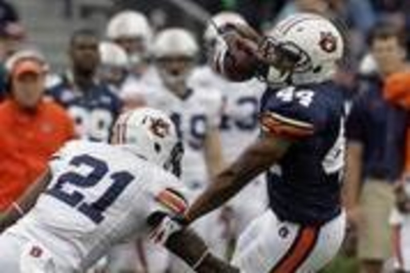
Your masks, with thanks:
<instances>
[{"instance_id":1,"label":"white logo helmet of player number 21","mask_svg":"<svg viewBox=\"0 0 410 273\"><path fill-rule=\"evenodd\" d=\"M159 110L142 107L121 114L111 143L180 175L182 144L172 120Z\"/></svg>"}]
</instances>

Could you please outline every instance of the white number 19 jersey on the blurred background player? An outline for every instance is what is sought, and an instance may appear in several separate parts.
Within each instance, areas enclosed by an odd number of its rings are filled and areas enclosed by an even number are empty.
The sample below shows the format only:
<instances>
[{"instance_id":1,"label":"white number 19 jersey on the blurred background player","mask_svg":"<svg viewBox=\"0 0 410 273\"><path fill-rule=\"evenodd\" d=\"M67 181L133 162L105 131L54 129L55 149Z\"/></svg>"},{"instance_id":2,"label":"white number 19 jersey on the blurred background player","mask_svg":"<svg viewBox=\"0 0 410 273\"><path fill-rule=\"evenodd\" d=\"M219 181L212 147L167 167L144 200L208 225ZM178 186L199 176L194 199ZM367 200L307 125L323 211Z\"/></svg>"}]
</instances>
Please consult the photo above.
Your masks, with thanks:
<instances>
[{"instance_id":1,"label":"white number 19 jersey on the blurred background player","mask_svg":"<svg viewBox=\"0 0 410 273\"><path fill-rule=\"evenodd\" d=\"M190 187L203 185L208 180L204 140L210 130L219 127L222 110L220 92L196 87L180 98L161 82L151 79L149 83L129 86L122 94L123 98L131 100L142 96L149 107L164 111L171 117L185 150L181 179Z\"/></svg>"}]
</instances>

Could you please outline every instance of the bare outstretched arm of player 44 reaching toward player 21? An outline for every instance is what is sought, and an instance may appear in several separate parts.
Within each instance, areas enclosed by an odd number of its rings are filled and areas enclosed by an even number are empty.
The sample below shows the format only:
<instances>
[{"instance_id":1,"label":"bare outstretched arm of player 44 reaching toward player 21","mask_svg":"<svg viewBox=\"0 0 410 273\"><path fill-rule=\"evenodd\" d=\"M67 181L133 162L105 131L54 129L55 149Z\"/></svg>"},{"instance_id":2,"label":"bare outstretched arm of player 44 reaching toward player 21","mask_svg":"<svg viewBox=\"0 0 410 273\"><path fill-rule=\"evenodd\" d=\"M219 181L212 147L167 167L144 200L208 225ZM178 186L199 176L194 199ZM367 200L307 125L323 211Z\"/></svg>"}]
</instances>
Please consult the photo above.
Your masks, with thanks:
<instances>
[{"instance_id":1,"label":"bare outstretched arm of player 44 reaching toward player 21","mask_svg":"<svg viewBox=\"0 0 410 273\"><path fill-rule=\"evenodd\" d=\"M186 213L189 222L211 212L238 193L253 178L267 170L288 150L291 141L265 135L255 141L227 169L218 174Z\"/></svg>"}]
</instances>

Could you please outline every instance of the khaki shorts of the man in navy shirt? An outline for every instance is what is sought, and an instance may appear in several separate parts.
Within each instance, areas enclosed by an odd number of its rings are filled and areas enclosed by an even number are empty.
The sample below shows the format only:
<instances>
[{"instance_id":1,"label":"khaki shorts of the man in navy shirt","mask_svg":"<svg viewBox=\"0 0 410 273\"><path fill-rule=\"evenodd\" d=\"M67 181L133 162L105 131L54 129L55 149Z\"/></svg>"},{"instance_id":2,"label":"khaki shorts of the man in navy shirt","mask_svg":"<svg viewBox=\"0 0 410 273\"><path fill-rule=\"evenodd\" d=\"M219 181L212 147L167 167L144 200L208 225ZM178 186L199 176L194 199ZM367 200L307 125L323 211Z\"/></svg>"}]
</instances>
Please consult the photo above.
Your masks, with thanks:
<instances>
[{"instance_id":1,"label":"khaki shorts of the man in navy shirt","mask_svg":"<svg viewBox=\"0 0 410 273\"><path fill-rule=\"evenodd\" d=\"M359 259L387 260L392 256L388 219L394 200L391 183L375 179L365 181L360 195L363 222L359 226Z\"/></svg>"}]
</instances>

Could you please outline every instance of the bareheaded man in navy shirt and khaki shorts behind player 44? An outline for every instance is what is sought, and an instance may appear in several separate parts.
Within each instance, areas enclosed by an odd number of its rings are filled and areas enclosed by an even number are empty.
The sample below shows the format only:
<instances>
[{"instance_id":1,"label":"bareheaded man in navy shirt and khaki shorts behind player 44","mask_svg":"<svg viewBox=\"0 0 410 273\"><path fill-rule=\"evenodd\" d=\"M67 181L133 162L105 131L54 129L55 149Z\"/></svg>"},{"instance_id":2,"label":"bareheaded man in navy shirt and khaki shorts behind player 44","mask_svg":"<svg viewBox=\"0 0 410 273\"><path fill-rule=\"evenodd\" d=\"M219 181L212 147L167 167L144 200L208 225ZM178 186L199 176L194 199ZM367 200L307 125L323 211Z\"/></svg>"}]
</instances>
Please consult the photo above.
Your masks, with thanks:
<instances>
[{"instance_id":1,"label":"bareheaded man in navy shirt and khaki shorts behind player 44","mask_svg":"<svg viewBox=\"0 0 410 273\"><path fill-rule=\"evenodd\" d=\"M359 82L347 118L344 202L347 220L358 235L362 273L379 273L392 256L388 219L393 183L402 172L406 113L383 99L383 81L407 69L405 39L389 25L378 25L368 39L377 65Z\"/></svg>"}]
</instances>

